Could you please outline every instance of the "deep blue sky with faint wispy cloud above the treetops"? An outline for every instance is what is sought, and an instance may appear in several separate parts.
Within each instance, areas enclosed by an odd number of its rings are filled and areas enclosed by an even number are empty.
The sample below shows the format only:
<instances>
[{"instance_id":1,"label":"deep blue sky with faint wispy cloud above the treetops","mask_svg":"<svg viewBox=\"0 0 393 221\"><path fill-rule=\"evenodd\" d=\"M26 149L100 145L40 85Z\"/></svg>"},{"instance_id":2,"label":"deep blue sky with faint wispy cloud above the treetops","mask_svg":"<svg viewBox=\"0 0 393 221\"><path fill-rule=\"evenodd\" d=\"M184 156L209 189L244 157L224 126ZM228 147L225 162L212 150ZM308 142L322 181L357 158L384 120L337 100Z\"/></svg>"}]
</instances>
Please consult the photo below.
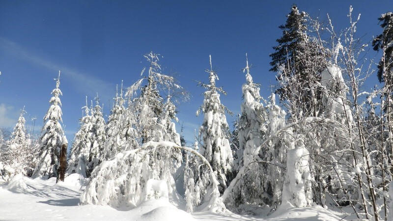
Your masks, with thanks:
<instances>
[{"instance_id":1,"label":"deep blue sky with faint wispy cloud above the treetops","mask_svg":"<svg viewBox=\"0 0 393 221\"><path fill-rule=\"evenodd\" d=\"M231 111L240 111L245 53L267 98L276 84L269 54L292 3L322 20L329 13L337 31L348 25L353 5L354 17L362 14L358 34L365 42L382 31L377 18L393 10L392 0L0 0L0 127L13 127L26 106L27 123L36 117L38 132L61 70L63 123L72 140L85 96L91 100L98 92L108 114L115 85L138 80L147 65L142 55L153 51L164 56L163 73L176 73L192 95L178 114L192 141L203 100L203 89L192 80L207 81L208 56L218 70L217 85L227 91L221 101ZM371 78L370 85L376 83Z\"/></svg>"}]
</instances>

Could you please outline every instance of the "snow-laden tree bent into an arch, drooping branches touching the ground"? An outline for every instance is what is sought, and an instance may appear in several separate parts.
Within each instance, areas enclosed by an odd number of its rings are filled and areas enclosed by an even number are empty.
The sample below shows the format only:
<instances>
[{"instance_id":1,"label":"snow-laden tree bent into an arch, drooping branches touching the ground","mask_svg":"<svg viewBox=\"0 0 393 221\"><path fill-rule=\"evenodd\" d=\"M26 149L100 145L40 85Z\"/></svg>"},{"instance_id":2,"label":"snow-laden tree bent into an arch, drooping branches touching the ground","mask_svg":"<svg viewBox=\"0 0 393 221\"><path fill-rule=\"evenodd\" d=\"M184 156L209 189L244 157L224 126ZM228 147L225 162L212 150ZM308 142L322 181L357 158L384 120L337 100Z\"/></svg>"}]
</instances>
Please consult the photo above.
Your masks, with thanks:
<instances>
[{"instance_id":1,"label":"snow-laden tree bent into an arch, drooping branches touching the ground","mask_svg":"<svg viewBox=\"0 0 393 221\"><path fill-rule=\"evenodd\" d=\"M149 158L150 152L160 151L163 148L172 151L175 149L185 150L199 158L201 163L209 168L209 179L212 183L207 208L213 212L227 211L218 191L219 182L207 160L196 150L179 146L170 141L148 141L137 149L120 152L113 159L103 162L100 169L94 171L97 173L96 176L90 180L81 194L81 202L83 204L134 207L146 199L160 197L161 193L158 192L168 190L161 188L156 189L153 195L149 193L150 190L147 189L150 188L150 185L146 184L154 182L156 177L154 173L151 173L153 168L149 166L146 158Z\"/></svg>"}]
</instances>

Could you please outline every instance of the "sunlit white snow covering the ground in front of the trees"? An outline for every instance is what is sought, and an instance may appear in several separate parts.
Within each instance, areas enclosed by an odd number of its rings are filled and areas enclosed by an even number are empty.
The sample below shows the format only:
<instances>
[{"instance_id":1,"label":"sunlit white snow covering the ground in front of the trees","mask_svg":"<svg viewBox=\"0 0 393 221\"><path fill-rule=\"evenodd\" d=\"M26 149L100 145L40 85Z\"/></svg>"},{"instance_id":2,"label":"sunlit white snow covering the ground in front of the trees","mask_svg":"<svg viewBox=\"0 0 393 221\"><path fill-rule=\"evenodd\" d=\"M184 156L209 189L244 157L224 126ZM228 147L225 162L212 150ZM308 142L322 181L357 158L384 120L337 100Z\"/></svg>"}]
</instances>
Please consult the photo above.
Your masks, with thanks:
<instances>
[{"instance_id":1,"label":"sunlit white snow covering the ground in front of the trees","mask_svg":"<svg viewBox=\"0 0 393 221\"><path fill-rule=\"evenodd\" d=\"M56 184L56 178L49 180L30 179L22 175L0 184L0 220L1 221L334 221L345 215L327 211L319 206L293 208L282 205L269 217L241 216L232 213L214 214L196 213L193 216L176 208L168 199L151 199L134 209L115 209L109 206L79 206L81 186L86 180L78 174L66 177L64 182Z\"/></svg>"}]
</instances>

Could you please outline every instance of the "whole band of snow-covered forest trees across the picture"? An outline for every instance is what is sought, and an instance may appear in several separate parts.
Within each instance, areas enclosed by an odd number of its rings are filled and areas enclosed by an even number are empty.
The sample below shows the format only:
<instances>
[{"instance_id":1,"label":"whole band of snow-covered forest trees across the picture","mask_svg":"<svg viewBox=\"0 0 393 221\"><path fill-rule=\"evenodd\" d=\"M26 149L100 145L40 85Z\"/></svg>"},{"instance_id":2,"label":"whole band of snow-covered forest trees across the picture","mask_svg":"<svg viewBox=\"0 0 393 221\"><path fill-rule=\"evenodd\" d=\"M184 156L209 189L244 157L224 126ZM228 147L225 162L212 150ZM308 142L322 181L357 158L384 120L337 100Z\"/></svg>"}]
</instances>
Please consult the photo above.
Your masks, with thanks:
<instances>
[{"instance_id":1,"label":"whole band of snow-covered forest trees across the picture","mask_svg":"<svg viewBox=\"0 0 393 221\"><path fill-rule=\"evenodd\" d=\"M161 55L144 55L147 67L131 86L116 88L107 120L98 95L95 104L86 98L66 168L60 159L68 141L59 73L39 138L27 132L25 111L8 136L0 131L1 177L61 182L62 168L66 176L78 173L89 180L81 204L135 207L150 198L184 198L189 213L239 214L316 204L351 208L358 219L388 220L393 217L393 13L378 18L381 32L369 42L357 37L361 21L352 7L348 19L350 26L338 32L330 18L322 23L293 5L270 55L276 90L261 97L245 55L241 112L233 129L225 116L233 113L220 101L226 94L220 73L206 56L208 81L197 83L205 90L196 110L203 121L190 128L197 129L192 145L176 128L177 105L187 102L189 93L162 72ZM370 50L380 57L366 59ZM368 90L370 78L380 84Z\"/></svg>"}]
</instances>

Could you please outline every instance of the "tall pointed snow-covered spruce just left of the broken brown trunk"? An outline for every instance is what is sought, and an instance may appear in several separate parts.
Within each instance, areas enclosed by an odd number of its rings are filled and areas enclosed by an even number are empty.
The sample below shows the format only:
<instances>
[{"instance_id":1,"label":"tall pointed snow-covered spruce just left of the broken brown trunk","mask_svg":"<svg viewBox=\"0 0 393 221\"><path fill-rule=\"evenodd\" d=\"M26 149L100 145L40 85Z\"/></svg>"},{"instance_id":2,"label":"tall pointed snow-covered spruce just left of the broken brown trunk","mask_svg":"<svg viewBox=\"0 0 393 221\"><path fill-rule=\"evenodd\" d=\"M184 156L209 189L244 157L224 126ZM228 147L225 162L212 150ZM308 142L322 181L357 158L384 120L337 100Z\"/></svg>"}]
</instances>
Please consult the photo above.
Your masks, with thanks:
<instances>
[{"instance_id":1,"label":"tall pointed snow-covered spruce just left of the broken brown trunk","mask_svg":"<svg viewBox=\"0 0 393 221\"><path fill-rule=\"evenodd\" d=\"M52 91L53 97L49 101L51 106L44 116L44 126L40 137L39 161L32 174L36 177L56 177L59 166L60 147L64 131L61 128L61 102L59 96L62 95L60 86L60 71L56 80L56 88Z\"/></svg>"}]
</instances>

